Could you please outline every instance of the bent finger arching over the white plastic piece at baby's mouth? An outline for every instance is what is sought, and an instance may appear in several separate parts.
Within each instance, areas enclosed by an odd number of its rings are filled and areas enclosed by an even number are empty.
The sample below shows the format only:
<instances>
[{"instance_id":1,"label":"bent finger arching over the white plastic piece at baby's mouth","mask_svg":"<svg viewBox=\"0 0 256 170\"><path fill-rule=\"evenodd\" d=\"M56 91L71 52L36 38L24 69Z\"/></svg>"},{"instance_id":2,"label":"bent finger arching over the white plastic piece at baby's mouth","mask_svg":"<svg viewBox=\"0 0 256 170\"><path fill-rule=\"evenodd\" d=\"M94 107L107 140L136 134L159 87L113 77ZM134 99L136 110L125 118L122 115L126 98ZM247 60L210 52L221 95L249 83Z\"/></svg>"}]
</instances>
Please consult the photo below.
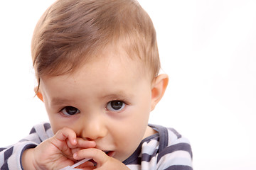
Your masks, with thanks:
<instances>
[{"instance_id":1,"label":"bent finger arching over the white plastic piece at baby's mouth","mask_svg":"<svg viewBox=\"0 0 256 170\"><path fill-rule=\"evenodd\" d=\"M107 162L107 160L109 159L109 157L107 156L107 154L105 154L105 152L96 148L82 149L78 152L75 152L75 154L73 155L73 158L77 160L90 158L90 159L93 159L99 166L102 164L105 164L105 162Z\"/></svg>"}]
</instances>

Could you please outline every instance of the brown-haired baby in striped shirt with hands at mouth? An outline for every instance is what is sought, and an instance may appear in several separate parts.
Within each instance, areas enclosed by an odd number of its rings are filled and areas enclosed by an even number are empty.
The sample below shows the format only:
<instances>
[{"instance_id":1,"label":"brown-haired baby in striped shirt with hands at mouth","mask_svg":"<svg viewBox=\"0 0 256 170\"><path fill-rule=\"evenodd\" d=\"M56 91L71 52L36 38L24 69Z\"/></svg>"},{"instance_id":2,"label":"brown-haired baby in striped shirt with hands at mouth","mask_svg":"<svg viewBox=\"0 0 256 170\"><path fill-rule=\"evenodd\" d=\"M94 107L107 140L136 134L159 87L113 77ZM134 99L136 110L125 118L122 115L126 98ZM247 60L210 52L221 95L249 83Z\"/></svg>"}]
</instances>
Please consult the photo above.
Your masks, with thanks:
<instances>
[{"instance_id":1,"label":"brown-haired baby in striped shirt with hands at mouth","mask_svg":"<svg viewBox=\"0 0 256 170\"><path fill-rule=\"evenodd\" d=\"M36 95L50 123L0 149L1 169L192 169L188 140L149 125L168 76L135 0L58 0L32 38Z\"/></svg>"}]
</instances>

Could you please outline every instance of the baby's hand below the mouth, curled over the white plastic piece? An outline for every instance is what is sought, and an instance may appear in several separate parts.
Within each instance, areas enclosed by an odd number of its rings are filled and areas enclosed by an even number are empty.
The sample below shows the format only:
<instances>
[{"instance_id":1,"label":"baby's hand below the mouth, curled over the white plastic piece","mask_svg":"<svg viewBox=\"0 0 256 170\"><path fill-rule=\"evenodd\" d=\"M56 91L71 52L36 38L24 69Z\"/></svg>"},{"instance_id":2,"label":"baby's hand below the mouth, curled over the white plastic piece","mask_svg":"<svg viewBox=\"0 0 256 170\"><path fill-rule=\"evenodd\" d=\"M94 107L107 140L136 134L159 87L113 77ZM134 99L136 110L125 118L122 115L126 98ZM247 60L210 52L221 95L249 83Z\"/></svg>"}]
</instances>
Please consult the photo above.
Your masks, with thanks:
<instances>
[{"instance_id":1,"label":"baby's hand below the mouth, curled over the white plastic piece","mask_svg":"<svg viewBox=\"0 0 256 170\"><path fill-rule=\"evenodd\" d=\"M122 162L120 162L117 159L114 159L105 152L103 152L100 149L96 148L89 148L89 149L81 149L78 152L74 154L74 159L85 159L85 158L92 158L96 162L96 167L95 166L78 166L80 169L102 169L102 170L107 170L107 169L119 169L119 170L129 170L127 166L125 166Z\"/></svg>"}]
</instances>

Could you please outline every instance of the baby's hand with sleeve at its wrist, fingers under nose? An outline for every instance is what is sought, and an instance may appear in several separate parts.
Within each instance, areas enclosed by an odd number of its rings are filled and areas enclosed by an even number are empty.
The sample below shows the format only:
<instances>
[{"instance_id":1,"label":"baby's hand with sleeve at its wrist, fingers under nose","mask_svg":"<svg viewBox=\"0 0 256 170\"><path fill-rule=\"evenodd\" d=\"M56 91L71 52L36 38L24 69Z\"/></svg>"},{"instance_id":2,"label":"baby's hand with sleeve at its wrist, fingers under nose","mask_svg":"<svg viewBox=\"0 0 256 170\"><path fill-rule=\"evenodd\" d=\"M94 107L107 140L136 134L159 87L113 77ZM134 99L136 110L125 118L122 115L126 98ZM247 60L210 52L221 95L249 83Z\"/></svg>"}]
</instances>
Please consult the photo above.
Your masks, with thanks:
<instances>
[{"instance_id":1,"label":"baby's hand with sleeve at its wrist, fingers under nose","mask_svg":"<svg viewBox=\"0 0 256 170\"><path fill-rule=\"evenodd\" d=\"M75 163L75 152L92 147L95 142L77 138L73 130L63 128L36 148L23 152L22 166L23 169L62 169Z\"/></svg>"}]
</instances>

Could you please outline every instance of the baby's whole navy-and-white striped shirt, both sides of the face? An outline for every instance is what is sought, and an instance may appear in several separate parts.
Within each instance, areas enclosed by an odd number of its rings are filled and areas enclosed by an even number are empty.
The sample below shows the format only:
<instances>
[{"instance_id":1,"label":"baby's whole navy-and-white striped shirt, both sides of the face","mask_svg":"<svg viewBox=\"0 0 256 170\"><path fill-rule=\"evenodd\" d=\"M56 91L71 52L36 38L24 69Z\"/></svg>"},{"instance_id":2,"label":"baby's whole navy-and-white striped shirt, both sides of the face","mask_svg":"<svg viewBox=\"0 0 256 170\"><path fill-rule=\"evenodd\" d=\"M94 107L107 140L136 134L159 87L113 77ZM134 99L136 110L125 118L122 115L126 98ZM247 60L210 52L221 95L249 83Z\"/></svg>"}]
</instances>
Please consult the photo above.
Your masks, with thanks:
<instances>
[{"instance_id":1,"label":"baby's whole navy-and-white striped shirt, both sides of the face","mask_svg":"<svg viewBox=\"0 0 256 170\"><path fill-rule=\"evenodd\" d=\"M158 133L146 137L126 160L132 170L192 170L192 151L188 140L172 128L149 125ZM34 126L28 137L15 145L0 148L0 170L23 169L21 155L25 149L34 148L53 137L49 123Z\"/></svg>"}]
</instances>

